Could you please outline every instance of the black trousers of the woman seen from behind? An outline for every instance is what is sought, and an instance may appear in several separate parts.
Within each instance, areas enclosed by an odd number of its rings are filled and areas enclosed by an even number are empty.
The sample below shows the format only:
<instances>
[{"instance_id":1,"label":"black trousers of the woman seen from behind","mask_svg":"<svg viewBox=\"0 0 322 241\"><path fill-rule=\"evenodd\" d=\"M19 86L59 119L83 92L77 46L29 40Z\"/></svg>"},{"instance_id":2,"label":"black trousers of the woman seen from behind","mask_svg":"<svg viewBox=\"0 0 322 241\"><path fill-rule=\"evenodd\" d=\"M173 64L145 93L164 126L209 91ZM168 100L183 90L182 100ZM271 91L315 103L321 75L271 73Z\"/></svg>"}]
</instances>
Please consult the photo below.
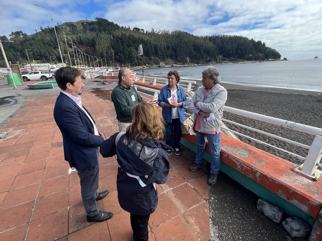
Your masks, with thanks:
<instances>
[{"instance_id":1,"label":"black trousers of the woman seen from behind","mask_svg":"<svg viewBox=\"0 0 322 241\"><path fill-rule=\"evenodd\" d=\"M146 216L130 214L131 227L133 230L134 241L148 241L147 224L149 222L150 214Z\"/></svg>"}]
</instances>

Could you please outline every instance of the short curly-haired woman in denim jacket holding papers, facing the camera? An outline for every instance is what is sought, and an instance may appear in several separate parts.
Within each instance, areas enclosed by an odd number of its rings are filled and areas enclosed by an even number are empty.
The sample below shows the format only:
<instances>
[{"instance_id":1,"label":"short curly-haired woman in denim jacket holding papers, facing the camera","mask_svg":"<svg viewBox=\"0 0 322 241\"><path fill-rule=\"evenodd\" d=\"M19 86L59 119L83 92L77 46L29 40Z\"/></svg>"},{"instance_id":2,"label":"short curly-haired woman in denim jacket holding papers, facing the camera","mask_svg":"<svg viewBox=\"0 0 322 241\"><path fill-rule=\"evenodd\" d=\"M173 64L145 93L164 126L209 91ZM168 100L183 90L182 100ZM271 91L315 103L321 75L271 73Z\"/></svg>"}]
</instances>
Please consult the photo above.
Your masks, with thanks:
<instances>
[{"instance_id":1,"label":"short curly-haired woman in denim jacket holding papers, facing the camera","mask_svg":"<svg viewBox=\"0 0 322 241\"><path fill-rule=\"evenodd\" d=\"M168 73L168 84L159 94L158 105L162 107L162 117L166 128L166 145L175 150L175 155L180 155L181 122L185 121L185 109L188 104L184 88L177 85L180 81L178 71ZM166 154L171 155L168 149Z\"/></svg>"}]
</instances>

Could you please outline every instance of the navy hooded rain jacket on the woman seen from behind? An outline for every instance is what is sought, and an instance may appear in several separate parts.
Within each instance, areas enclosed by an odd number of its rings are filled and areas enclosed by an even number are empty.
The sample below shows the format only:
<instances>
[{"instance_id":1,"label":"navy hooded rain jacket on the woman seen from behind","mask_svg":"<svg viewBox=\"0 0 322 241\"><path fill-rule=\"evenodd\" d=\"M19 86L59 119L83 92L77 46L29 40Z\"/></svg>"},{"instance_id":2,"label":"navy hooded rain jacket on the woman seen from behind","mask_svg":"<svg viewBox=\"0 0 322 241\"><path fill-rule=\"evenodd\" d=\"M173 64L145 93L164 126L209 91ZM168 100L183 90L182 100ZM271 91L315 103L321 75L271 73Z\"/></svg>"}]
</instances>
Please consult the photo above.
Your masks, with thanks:
<instances>
[{"instance_id":1,"label":"navy hooded rain jacket on the woman seen from behind","mask_svg":"<svg viewBox=\"0 0 322 241\"><path fill-rule=\"evenodd\" d=\"M128 141L123 135L115 146L118 133L100 146L103 157L117 154L118 202L129 213L149 215L158 204L156 183L165 183L169 173L170 164L164 145L148 138L138 142Z\"/></svg>"}]
</instances>

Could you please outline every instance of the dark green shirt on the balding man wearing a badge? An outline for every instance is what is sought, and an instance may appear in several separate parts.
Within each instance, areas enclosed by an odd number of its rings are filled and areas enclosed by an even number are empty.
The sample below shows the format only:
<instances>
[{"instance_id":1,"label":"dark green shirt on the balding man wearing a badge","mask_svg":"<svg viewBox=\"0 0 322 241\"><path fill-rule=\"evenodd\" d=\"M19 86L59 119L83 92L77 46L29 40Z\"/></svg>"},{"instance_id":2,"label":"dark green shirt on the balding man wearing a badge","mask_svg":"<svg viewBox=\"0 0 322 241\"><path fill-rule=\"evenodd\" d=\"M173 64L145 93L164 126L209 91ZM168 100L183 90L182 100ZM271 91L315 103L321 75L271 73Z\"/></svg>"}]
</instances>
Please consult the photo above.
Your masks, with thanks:
<instances>
[{"instance_id":1,"label":"dark green shirt on the balding man wearing a badge","mask_svg":"<svg viewBox=\"0 0 322 241\"><path fill-rule=\"evenodd\" d=\"M118 121L131 122L132 107L139 102L145 102L134 87L125 88L120 84L113 89L111 97Z\"/></svg>"}]
</instances>

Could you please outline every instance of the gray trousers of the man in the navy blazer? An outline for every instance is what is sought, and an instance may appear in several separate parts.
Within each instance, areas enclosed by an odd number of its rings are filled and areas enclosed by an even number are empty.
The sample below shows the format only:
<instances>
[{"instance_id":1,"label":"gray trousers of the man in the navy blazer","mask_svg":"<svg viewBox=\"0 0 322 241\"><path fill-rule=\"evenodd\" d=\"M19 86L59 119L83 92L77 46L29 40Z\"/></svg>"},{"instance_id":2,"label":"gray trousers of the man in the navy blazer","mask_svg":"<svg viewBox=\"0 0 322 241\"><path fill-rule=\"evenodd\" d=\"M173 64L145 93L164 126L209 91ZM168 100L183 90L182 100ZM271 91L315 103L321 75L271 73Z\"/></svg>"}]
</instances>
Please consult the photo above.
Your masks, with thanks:
<instances>
[{"instance_id":1,"label":"gray trousers of the man in the navy blazer","mask_svg":"<svg viewBox=\"0 0 322 241\"><path fill-rule=\"evenodd\" d=\"M86 169L78 169L77 174L81 179L81 198L86 214L89 217L93 217L99 212L95 201L98 196L97 190L99 188L99 164Z\"/></svg>"}]
</instances>

